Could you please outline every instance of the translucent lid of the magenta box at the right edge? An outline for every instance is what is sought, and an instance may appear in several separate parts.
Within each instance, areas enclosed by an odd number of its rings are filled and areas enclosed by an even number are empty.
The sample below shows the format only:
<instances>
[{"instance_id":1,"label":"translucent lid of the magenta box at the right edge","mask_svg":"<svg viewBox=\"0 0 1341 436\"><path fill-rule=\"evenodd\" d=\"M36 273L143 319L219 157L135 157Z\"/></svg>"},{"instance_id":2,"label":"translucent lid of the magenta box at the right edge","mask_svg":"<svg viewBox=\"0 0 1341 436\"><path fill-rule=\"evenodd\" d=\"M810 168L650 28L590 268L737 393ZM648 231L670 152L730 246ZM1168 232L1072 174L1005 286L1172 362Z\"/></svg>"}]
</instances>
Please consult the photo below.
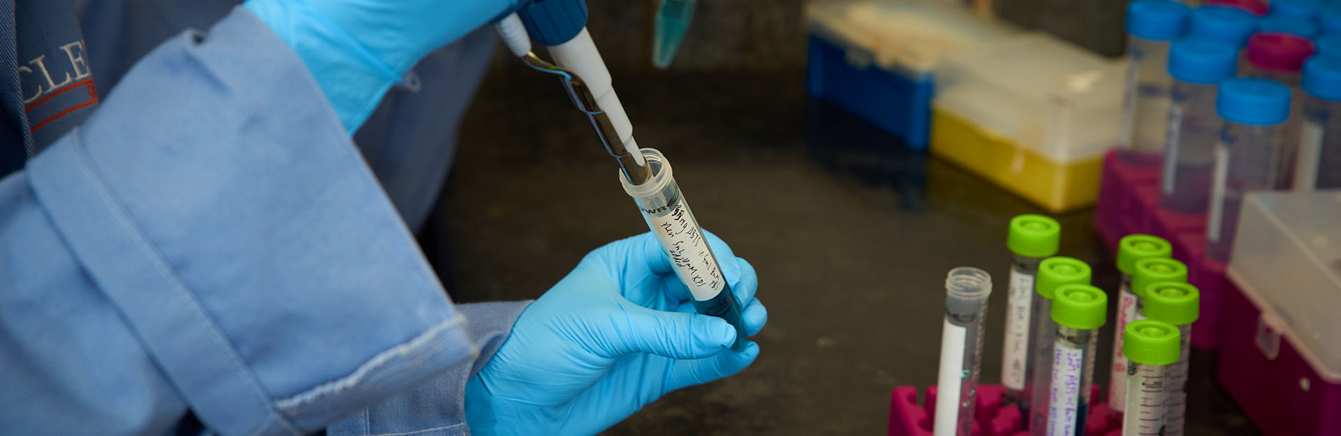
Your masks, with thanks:
<instances>
[{"instance_id":1,"label":"translucent lid of the magenta box at the right edge","mask_svg":"<svg viewBox=\"0 0 1341 436\"><path fill-rule=\"evenodd\" d=\"M1243 202L1228 276L1328 383L1341 383L1341 190ZM1238 320L1236 322L1252 322Z\"/></svg>"}]
</instances>

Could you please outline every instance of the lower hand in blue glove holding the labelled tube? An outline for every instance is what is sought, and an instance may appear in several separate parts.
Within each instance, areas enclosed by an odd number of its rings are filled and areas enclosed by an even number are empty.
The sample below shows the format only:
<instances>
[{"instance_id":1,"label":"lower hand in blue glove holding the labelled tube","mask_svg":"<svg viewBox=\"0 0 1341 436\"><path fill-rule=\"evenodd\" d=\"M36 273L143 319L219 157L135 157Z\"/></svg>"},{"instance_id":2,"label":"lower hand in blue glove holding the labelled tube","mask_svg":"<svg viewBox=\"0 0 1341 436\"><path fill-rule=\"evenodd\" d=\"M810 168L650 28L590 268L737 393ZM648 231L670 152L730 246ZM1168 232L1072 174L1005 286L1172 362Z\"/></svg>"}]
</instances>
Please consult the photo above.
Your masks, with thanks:
<instances>
[{"instance_id":1,"label":"lower hand in blue glove holding the labelled tube","mask_svg":"<svg viewBox=\"0 0 1341 436\"><path fill-rule=\"evenodd\" d=\"M705 233L707 234L707 233ZM707 234L754 336L767 312L754 267ZM740 372L759 345L731 352L735 329L695 313L650 233L611 242L522 313L465 389L473 435L595 435L666 392Z\"/></svg>"}]
</instances>

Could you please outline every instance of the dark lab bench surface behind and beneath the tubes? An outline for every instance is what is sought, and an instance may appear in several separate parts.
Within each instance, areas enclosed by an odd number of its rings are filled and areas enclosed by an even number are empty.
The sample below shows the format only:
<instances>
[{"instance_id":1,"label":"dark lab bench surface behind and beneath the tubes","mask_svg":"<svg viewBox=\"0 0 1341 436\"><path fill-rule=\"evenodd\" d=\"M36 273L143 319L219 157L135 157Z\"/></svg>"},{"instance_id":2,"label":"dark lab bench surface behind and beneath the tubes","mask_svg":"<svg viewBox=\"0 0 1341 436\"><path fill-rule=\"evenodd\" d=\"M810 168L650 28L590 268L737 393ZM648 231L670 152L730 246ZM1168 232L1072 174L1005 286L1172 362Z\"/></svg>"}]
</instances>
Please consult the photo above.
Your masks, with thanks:
<instances>
[{"instance_id":1,"label":"dark lab bench surface behind and beneath the tubes","mask_svg":"<svg viewBox=\"0 0 1341 436\"><path fill-rule=\"evenodd\" d=\"M673 392L606 435L885 435L890 389L936 383L956 266L994 277L982 378L1000 380L1006 225L1043 211L807 100L802 80L616 75L638 144L665 152L699 221L758 270L768 325L751 368ZM535 298L591 249L648 230L548 76L495 68L460 143L422 237L456 301ZM1061 254L1114 292L1093 210L1054 217ZM1105 387L1110 346L1109 328L1096 369ZM1193 354L1188 435L1258 435L1215 384L1214 358Z\"/></svg>"}]
</instances>

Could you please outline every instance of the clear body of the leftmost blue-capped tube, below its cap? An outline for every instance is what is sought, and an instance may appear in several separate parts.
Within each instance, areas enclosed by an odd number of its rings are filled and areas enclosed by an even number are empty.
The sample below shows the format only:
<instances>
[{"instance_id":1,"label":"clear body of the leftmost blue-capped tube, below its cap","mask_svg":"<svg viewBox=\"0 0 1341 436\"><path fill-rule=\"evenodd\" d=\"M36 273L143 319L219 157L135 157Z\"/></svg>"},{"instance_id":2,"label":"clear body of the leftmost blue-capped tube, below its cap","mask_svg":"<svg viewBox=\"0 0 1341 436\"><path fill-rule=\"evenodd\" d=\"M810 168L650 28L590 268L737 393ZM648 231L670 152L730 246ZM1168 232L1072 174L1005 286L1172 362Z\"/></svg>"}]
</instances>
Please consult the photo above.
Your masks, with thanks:
<instances>
[{"instance_id":1,"label":"clear body of the leftmost blue-capped tube, below its cap","mask_svg":"<svg viewBox=\"0 0 1341 436\"><path fill-rule=\"evenodd\" d=\"M1118 156L1136 165L1159 165L1168 126L1168 40L1128 36L1129 64L1122 98L1122 143Z\"/></svg>"}]
</instances>

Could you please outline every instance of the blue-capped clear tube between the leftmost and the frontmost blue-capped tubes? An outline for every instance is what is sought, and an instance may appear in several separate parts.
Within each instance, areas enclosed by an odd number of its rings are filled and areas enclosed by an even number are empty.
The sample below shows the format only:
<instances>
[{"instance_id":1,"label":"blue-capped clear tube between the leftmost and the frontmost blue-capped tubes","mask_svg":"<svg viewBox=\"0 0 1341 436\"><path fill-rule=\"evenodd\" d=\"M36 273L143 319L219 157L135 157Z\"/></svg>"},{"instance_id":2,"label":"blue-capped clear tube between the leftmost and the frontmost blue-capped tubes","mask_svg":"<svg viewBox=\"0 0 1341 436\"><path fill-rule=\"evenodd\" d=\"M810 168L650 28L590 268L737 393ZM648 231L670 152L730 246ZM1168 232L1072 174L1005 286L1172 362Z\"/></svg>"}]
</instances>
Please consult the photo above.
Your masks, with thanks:
<instances>
[{"instance_id":1,"label":"blue-capped clear tube between the leftmost and the frontmost blue-capped tubes","mask_svg":"<svg viewBox=\"0 0 1341 436\"><path fill-rule=\"evenodd\" d=\"M1172 103L1160 207L1181 214L1206 213L1215 140L1222 123L1215 112L1215 95L1219 83L1234 76L1236 63L1238 49L1228 41L1185 39L1173 43L1169 53Z\"/></svg>"}]
</instances>

